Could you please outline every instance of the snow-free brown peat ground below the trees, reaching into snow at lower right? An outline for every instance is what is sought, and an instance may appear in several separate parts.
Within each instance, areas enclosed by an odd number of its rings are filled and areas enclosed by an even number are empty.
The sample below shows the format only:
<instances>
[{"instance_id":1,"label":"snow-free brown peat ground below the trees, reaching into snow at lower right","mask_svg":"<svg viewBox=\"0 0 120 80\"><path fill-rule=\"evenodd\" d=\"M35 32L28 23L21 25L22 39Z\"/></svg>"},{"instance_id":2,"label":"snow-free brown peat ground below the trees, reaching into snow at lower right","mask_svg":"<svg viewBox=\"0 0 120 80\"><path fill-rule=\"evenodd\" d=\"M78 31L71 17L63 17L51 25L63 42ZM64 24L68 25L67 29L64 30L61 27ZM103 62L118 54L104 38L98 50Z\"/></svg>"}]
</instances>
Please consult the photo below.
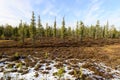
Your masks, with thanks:
<instances>
[{"instance_id":1,"label":"snow-free brown peat ground below the trees, reaching into snow at lower right","mask_svg":"<svg viewBox=\"0 0 120 80\"><path fill-rule=\"evenodd\" d=\"M16 53L19 55L18 58L14 58ZM54 65L56 68L63 64L70 66L70 63L78 64L85 62L82 66L83 68L94 71L95 75L102 76L103 78L109 77L110 79L113 77L113 74L107 73L107 75L105 75L106 73L102 73L99 70L97 71L96 67L99 67L99 63L104 63L114 70L120 70L120 40L99 39L80 42L76 40L44 38L37 40L34 48L32 47L30 39L25 40L24 45L18 41L0 40L0 63L5 61L19 63L22 58L26 62L26 68L30 66L35 68L35 64L39 61L42 63L41 65L44 63L47 64L45 57L47 57L47 60L59 62L60 64L56 63L57 65ZM66 62L66 60L71 61ZM41 67L41 65L38 67ZM78 65L72 65L72 67L76 68ZM36 70L38 69L36 68ZM73 75L73 73L70 74Z\"/></svg>"}]
</instances>

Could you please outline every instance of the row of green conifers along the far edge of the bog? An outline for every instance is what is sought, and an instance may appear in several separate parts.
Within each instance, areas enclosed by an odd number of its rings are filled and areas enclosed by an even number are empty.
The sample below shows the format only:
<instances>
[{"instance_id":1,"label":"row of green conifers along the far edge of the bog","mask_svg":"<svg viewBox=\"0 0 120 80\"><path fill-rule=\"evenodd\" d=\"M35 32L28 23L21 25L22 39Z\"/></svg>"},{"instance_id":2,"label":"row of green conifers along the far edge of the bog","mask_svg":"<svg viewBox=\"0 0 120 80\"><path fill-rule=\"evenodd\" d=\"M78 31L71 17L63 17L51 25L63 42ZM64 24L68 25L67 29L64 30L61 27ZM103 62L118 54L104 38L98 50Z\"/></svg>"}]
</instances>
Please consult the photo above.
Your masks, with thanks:
<instances>
[{"instance_id":1,"label":"row of green conifers along the far edge of the bog","mask_svg":"<svg viewBox=\"0 0 120 80\"><path fill-rule=\"evenodd\" d=\"M110 26L108 22L104 26L101 26L99 20L96 22L96 25L91 26L86 26L82 21L77 21L75 29L71 27L66 28L64 17L60 28L57 27L56 18L53 26L49 26L48 23L46 23L46 26L43 26L40 16L38 16L38 20L36 21L34 12L32 12L30 24L26 24L21 20L17 27L9 24L0 26L0 39L2 40L19 39L24 43L25 38L31 38L34 44L35 40L43 37L75 38L79 41L83 41L86 38L113 39L120 38L120 31L114 25Z\"/></svg>"}]
</instances>

